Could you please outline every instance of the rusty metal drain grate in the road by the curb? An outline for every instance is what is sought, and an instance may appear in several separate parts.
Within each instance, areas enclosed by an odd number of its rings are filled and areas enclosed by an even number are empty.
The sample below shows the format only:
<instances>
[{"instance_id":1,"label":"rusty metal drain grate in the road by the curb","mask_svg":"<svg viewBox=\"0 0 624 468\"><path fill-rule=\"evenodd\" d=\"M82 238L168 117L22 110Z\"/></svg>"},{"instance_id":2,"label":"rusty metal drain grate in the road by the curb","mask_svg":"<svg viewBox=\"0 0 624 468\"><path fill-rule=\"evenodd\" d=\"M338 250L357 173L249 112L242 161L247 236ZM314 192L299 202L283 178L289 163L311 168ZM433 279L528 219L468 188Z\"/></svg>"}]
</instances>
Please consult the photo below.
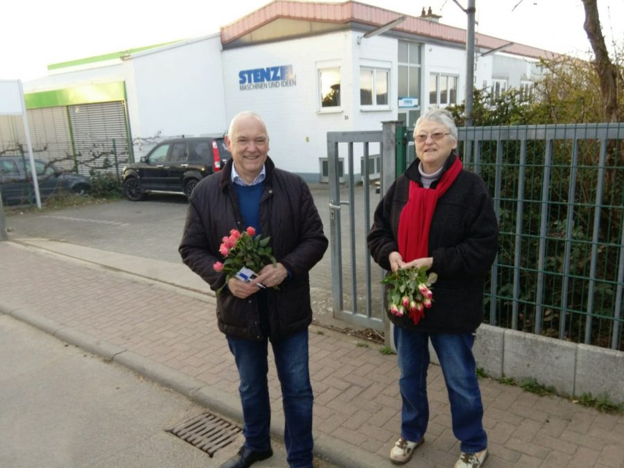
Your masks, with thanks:
<instances>
[{"instance_id":1,"label":"rusty metal drain grate in the road by the curb","mask_svg":"<svg viewBox=\"0 0 624 468\"><path fill-rule=\"evenodd\" d=\"M212 457L218 449L234 442L242 429L211 413L202 413L166 431Z\"/></svg>"}]
</instances>

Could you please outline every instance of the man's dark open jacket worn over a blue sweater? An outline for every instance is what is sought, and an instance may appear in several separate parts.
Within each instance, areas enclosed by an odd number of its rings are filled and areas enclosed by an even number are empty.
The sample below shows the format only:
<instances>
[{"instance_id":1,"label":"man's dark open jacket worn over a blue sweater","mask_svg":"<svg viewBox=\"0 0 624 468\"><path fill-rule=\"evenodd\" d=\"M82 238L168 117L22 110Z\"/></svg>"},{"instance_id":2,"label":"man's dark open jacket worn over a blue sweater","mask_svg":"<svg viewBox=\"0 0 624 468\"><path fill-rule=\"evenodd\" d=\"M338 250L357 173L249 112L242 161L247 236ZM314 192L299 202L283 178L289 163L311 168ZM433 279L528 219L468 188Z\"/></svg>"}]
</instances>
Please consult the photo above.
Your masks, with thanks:
<instances>
[{"instance_id":1,"label":"man's dark open jacket worn over a blue sweater","mask_svg":"<svg viewBox=\"0 0 624 468\"><path fill-rule=\"evenodd\" d=\"M231 181L232 159L223 171L209 175L193 190L180 243L182 261L216 291L225 283L225 273L213 265L223 261L219 246L231 229L243 230L236 189ZM279 289L268 288L266 306L271 338L306 329L312 321L309 270L322 259L327 238L306 182L281 171L267 157L266 179L260 200L263 237L270 236L274 257L289 272ZM223 288L217 295L220 331L236 338L261 340L259 295L234 297Z\"/></svg>"}]
</instances>

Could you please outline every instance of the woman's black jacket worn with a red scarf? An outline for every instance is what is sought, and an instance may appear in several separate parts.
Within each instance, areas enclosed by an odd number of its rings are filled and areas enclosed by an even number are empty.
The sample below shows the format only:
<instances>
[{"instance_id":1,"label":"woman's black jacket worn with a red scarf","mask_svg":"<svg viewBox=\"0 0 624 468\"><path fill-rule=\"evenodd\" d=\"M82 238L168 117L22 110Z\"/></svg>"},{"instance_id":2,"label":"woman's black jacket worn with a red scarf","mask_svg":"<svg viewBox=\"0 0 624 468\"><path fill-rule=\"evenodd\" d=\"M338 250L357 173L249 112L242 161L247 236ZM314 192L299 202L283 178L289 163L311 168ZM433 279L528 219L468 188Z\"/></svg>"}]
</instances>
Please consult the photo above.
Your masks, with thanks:
<instances>
[{"instance_id":1,"label":"woman's black jacket worn with a red scarf","mask_svg":"<svg viewBox=\"0 0 624 468\"><path fill-rule=\"evenodd\" d=\"M451 153L444 171L455 158L455 153ZM410 180L421 180L418 164L416 159L397 178L375 210L368 247L374 261L386 270L390 270L390 252L399 251L399 216L408 201ZM485 183L478 175L462 170L437 200L431 220L428 257L433 257L433 266L429 271L438 275L432 286L433 306L425 309L425 316L417 325L407 314L397 317L388 312L390 320L399 327L419 331L476 330L483 321L483 286L499 248L498 237L499 225Z\"/></svg>"}]
</instances>

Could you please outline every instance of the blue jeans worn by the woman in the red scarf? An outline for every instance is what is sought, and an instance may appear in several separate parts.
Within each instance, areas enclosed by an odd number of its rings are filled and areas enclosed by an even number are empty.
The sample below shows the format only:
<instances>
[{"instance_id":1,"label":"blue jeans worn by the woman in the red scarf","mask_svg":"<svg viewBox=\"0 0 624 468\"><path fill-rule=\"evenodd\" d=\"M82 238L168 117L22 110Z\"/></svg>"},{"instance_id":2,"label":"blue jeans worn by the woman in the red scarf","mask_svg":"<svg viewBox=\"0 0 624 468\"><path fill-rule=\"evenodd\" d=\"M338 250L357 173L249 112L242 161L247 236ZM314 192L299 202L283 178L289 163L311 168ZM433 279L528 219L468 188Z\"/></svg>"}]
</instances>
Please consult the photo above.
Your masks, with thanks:
<instances>
[{"instance_id":1,"label":"blue jeans worn by the woman in the red scarf","mask_svg":"<svg viewBox=\"0 0 624 468\"><path fill-rule=\"evenodd\" d=\"M395 327L399 354L399 388L403 399L401 435L420 440L429 419L427 401L428 339L440 360L451 402L453 434L463 452L476 453L487 447L483 430L483 404L472 354L472 333L422 333Z\"/></svg>"}]
</instances>

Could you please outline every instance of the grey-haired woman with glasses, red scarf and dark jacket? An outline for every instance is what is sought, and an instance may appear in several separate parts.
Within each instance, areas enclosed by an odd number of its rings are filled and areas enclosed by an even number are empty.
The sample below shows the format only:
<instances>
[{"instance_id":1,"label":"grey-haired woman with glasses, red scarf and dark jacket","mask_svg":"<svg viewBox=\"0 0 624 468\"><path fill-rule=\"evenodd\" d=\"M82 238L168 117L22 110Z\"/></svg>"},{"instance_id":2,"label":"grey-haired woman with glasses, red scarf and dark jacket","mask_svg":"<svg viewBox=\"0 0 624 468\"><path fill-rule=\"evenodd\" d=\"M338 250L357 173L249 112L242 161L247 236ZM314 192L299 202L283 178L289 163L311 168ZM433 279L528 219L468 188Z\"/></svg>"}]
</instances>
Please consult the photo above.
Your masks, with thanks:
<instances>
[{"instance_id":1,"label":"grey-haired woman with glasses, red scarf and dark jacket","mask_svg":"<svg viewBox=\"0 0 624 468\"><path fill-rule=\"evenodd\" d=\"M449 392L453 433L461 442L455 466L476 468L487 457L487 435L472 345L483 320L483 286L498 250L499 226L485 183L462 169L457 128L447 110L422 115L414 142L418 158L379 202L367 239L374 261L386 270L426 267L437 274L433 305L423 318L388 312L403 400L401 435L390 460L408 462L424 442L431 339Z\"/></svg>"}]
</instances>

